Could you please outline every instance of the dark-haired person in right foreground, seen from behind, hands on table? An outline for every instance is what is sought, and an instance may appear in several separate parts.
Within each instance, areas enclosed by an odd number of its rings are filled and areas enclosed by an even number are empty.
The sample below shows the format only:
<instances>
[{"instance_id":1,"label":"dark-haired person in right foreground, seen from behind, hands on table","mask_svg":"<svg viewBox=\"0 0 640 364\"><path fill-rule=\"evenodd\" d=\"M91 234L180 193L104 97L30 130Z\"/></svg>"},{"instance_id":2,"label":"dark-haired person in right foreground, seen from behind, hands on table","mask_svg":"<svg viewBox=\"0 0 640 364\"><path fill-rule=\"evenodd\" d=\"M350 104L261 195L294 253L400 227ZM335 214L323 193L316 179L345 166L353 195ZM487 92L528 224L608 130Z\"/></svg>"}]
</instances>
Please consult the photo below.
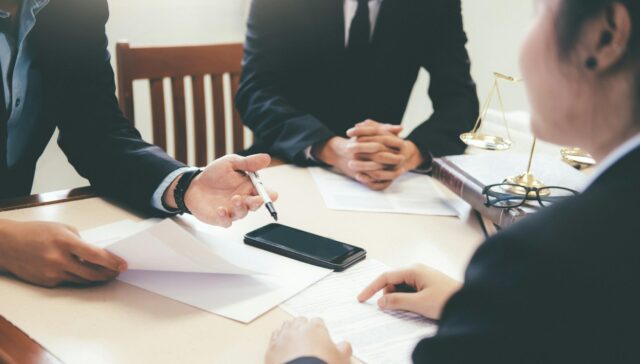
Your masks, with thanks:
<instances>
[{"instance_id":1,"label":"dark-haired person in right foreground, seen from behind, hands on table","mask_svg":"<svg viewBox=\"0 0 640 364\"><path fill-rule=\"evenodd\" d=\"M600 161L579 196L488 240L465 282L423 266L386 273L382 309L439 320L425 363L640 363L640 2L539 0L521 68L541 139ZM395 292L408 284L416 293ZM348 362L320 320L274 333L269 363Z\"/></svg>"}]
</instances>

